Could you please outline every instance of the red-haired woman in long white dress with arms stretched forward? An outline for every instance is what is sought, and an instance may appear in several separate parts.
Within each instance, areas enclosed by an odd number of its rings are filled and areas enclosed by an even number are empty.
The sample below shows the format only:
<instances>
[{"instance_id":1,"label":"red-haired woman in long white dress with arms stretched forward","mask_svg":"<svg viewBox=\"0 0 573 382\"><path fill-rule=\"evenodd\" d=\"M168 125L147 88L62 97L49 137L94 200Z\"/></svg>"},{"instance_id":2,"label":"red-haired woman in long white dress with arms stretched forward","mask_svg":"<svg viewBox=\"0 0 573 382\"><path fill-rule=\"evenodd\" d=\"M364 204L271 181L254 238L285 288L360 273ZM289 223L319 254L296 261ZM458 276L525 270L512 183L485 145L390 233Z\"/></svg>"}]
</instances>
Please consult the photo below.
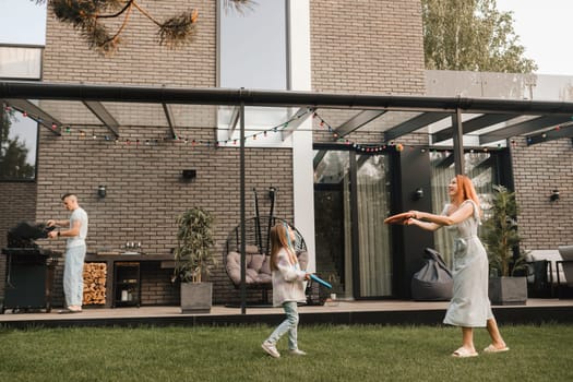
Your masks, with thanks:
<instances>
[{"instance_id":1,"label":"red-haired woman in long white dress with arms stretched forward","mask_svg":"<svg viewBox=\"0 0 573 382\"><path fill-rule=\"evenodd\" d=\"M446 227L454 236L454 290L444 323L462 327L462 347L454 357L476 357L474 327L486 326L491 344L486 353L506 351L510 348L501 337L488 297L488 255L478 238L481 210L471 180L456 175L447 186L450 204L441 215L410 211L406 225L427 230Z\"/></svg>"}]
</instances>

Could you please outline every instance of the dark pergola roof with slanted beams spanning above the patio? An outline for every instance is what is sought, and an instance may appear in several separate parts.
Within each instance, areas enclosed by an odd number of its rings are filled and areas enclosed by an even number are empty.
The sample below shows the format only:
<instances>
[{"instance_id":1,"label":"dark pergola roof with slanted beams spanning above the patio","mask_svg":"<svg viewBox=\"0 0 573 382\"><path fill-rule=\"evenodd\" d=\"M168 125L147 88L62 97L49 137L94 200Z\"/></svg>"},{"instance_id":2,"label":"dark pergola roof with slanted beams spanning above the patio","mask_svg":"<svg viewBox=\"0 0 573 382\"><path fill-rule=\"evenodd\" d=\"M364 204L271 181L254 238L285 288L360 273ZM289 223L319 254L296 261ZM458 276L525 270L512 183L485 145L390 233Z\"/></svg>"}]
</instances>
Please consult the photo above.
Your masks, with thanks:
<instances>
[{"instance_id":1,"label":"dark pergola roof with slanted beams spanning above the patio","mask_svg":"<svg viewBox=\"0 0 573 382\"><path fill-rule=\"evenodd\" d=\"M176 136L178 128L217 126L216 110L224 106L231 108L230 134L243 105L296 108L286 133L321 112L338 139L360 131L379 133L386 143L425 133L432 145L453 140L454 151L463 150L464 136L478 146L513 136L527 144L573 136L573 103L564 102L11 81L0 82L0 99L55 134L64 126L102 126L118 138L121 126L141 126L168 127Z\"/></svg>"}]
</instances>

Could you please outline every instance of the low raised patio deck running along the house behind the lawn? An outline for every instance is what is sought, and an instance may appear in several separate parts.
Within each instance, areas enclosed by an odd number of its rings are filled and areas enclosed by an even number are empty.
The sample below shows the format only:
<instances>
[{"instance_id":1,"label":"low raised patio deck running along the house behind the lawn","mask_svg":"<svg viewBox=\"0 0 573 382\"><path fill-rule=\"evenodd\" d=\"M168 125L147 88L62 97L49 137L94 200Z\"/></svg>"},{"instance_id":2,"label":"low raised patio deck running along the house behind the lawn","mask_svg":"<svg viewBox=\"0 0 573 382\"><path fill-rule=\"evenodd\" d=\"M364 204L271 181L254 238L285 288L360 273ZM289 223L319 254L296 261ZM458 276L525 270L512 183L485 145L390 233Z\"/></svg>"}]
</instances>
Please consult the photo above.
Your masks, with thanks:
<instances>
[{"instance_id":1,"label":"low raised patio deck running along the house behind the lawn","mask_svg":"<svg viewBox=\"0 0 573 382\"><path fill-rule=\"evenodd\" d=\"M441 324L446 301L337 301L336 305L300 307L300 324ZM525 306L493 306L501 325L540 324L544 322L573 323L573 299L530 298ZM81 313L59 314L11 312L0 314L0 326L136 326L136 325L275 325L284 317L279 308L240 308L214 306L206 314L181 314L179 307L86 308Z\"/></svg>"}]
</instances>

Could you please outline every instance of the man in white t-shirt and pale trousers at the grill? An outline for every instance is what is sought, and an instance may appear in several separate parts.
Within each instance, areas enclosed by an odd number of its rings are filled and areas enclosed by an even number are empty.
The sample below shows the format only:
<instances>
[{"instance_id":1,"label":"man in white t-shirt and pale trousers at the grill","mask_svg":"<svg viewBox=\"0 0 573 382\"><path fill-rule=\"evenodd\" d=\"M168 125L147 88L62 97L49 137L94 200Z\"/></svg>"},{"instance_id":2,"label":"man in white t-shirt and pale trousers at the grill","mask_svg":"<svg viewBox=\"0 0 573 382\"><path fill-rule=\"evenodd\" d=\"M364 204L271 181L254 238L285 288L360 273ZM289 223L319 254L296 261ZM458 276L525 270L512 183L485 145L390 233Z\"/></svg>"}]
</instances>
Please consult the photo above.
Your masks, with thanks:
<instances>
[{"instance_id":1,"label":"man in white t-shirt and pale trousers at the grill","mask_svg":"<svg viewBox=\"0 0 573 382\"><path fill-rule=\"evenodd\" d=\"M50 239L64 237L65 263L63 265L63 295L65 297L67 309L60 313L77 313L82 311L82 300L84 293L84 260L85 260L85 237L87 236L87 214L80 207L77 196L67 193L62 196L63 206L71 211L69 220L47 222L48 227L60 227L48 232Z\"/></svg>"}]
</instances>

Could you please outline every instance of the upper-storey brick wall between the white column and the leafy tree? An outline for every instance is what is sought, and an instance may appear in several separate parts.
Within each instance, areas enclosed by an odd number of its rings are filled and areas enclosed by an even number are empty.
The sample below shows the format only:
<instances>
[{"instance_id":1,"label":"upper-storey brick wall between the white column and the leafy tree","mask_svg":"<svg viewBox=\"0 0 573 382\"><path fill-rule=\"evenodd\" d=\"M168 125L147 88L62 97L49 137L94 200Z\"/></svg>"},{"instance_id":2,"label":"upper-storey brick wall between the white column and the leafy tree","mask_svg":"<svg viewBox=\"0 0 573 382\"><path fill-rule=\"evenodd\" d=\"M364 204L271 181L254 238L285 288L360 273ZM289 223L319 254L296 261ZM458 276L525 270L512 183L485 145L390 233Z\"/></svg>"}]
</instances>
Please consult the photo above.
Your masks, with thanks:
<instances>
[{"instance_id":1,"label":"upper-storey brick wall between the white column and the leafy tree","mask_svg":"<svg viewBox=\"0 0 573 382\"><path fill-rule=\"evenodd\" d=\"M419 0L310 2L312 89L423 94Z\"/></svg>"}]
</instances>

